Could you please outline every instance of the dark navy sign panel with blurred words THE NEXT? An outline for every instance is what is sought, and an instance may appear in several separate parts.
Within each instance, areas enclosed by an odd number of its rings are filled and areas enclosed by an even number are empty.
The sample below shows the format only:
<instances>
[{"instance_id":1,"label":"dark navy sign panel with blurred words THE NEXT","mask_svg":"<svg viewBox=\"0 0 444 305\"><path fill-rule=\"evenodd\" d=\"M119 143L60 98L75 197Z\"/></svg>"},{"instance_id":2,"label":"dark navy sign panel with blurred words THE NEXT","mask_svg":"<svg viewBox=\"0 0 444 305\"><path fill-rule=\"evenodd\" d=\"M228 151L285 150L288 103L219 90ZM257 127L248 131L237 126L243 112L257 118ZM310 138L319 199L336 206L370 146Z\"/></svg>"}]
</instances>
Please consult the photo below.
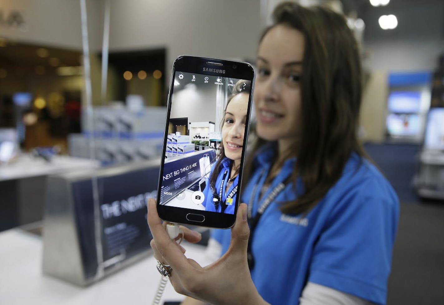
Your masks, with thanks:
<instances>
[{"instance_id":1,"label":"dark navy sign panel with blurred words THE NEXT","mask_svg":"<svg viewBox=\"0 0 444 305\"><path fill-rule=\"evenodd\" d=\"M158 177L159 167L98 177L105 268L150 248L147 200L157 196ZM71 190L83 269L90 278L98 268L91 178L73 182Z\"/></svg>"}]
</instances>

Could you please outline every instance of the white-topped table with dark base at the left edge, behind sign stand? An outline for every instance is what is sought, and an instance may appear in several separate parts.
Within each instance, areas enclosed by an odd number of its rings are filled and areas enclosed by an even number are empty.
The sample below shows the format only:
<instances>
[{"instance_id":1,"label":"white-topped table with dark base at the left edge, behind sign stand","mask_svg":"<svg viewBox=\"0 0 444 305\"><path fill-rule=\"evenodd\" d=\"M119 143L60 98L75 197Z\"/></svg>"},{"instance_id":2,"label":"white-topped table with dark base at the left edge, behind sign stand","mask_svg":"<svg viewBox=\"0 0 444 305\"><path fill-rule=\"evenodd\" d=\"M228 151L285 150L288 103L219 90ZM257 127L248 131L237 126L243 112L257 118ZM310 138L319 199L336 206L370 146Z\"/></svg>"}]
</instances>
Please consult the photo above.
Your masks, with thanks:
<instances>
[{"instance_id":1,"label":"white-topped table with dark base at the left edge, behind sign stand","mask_svg":"<svg viewBox=\"0 0 444 305\"><path fill-rule=\"evenodd\" d=\"M42 220L46 177L99 168L99 161L54 156L51 162L24 154L0 166L0 231Z\"/></svg>"}]
</instances>

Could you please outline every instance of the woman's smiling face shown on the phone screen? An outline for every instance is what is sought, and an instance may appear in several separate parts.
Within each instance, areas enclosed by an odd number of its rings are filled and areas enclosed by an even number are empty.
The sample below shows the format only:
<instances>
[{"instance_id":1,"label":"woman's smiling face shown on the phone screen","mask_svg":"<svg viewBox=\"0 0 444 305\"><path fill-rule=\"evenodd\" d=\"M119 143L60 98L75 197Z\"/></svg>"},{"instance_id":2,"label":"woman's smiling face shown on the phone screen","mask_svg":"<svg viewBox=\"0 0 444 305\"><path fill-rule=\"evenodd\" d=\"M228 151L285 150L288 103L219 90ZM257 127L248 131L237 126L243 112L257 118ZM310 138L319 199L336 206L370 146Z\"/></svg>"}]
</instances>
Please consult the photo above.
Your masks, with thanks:
<instances>
[{"instance_id":1,"label":"woman's smiling face shown on the phone screen","mask_svg":"<svg viewBox=\"0 0 444 305\"><path fill-rule=\"evenodd\" d=\"M222 125L222 144L227 158L240 161L244 143L248 94L239 93L228 103Z\"/></svg>"}]
</instances>

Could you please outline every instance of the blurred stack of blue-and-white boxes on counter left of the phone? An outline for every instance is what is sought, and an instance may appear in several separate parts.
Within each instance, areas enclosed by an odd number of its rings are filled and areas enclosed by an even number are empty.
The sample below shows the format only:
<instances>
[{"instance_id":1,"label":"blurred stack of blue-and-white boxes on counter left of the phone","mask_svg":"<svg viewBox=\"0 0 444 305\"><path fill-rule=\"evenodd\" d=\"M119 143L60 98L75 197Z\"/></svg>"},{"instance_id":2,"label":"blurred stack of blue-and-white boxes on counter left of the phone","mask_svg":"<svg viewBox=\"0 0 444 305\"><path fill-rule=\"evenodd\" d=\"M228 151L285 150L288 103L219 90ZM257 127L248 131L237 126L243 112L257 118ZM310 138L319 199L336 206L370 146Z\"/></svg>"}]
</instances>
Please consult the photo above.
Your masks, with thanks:
<instances>
[{"instance_id":1,"label":"blurred stack of blue-and-white boxes on counter left of the phone","mask_svg":"<svg viewBox=\"0 0 444 305\"><path fill-rule=\"evenodd\" d=\"M68 137L70 155L90 157L89 145L94 139L94 158L102 165L142 161L162 154L165 107L131 108L94 107L82 113L82 135ZM168 136L169 147L172 135ZM168 149L168 148L167 148ZM172 153L172 148L168 152ZM176 149L177 152L177 149Z\"/></svg>"}]
</instances>

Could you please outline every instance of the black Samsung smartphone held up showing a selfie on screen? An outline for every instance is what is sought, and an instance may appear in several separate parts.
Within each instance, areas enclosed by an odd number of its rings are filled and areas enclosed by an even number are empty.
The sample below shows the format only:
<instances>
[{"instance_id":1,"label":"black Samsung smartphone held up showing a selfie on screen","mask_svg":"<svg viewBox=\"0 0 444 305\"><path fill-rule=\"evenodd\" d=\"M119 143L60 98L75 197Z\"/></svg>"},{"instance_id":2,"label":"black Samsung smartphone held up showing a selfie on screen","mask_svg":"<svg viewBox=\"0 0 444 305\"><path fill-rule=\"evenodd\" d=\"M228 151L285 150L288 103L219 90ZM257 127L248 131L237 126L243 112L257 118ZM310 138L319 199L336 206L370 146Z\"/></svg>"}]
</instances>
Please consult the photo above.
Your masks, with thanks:
<instances>
[{"instance_id":1,"label":"black Samsung smartphone held up showing a selfie on screen","mask_svg":"<svg viewBox=\"0 0 444 305\"><path fill-rule=\"evenodd\" d=\"M164 221L234 225L254 77L245 62L195 56L174 61L157 196Z\"/></svg>"}]
</instances>

